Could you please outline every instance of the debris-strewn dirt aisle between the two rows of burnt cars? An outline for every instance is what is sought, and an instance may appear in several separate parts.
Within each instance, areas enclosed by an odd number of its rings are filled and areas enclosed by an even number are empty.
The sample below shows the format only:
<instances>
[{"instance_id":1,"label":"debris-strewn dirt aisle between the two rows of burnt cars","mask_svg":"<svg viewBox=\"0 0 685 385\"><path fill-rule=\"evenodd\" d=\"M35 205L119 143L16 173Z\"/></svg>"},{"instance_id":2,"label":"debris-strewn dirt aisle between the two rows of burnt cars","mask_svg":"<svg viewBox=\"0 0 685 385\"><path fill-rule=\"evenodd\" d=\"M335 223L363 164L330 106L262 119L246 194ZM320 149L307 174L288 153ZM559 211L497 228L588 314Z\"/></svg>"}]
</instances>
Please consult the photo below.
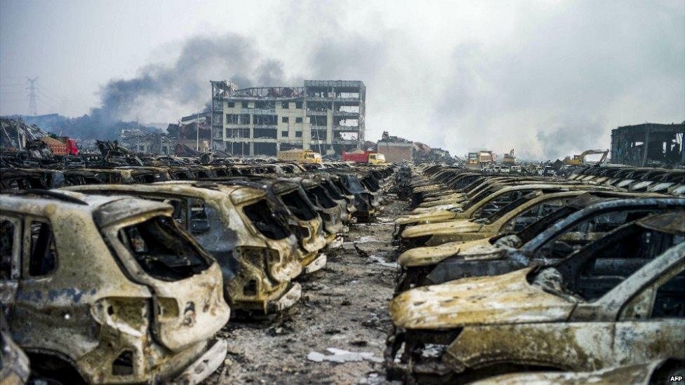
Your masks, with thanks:
<instances>
[{"instance_id":1,"label":"debris-strewn dirt aisle between the two rows of burnt cars","mask_svg":"<svg viewBox=\"0 0 685 385\"><path fill-rule=\"evenodd\" d=\"M352 224L342 248L326 252L323 271L300 282L302 298L288 314L231 322L220 332L228 341L228 356L208 384L387 383L381 361L390 327L387 306L399 269L391 245L392 220L407 205L393 194L385 199L375 222ZM337 351L345 362L321 360L336 352L329 348L366 354Z\"/></svg>"}]
</instances>

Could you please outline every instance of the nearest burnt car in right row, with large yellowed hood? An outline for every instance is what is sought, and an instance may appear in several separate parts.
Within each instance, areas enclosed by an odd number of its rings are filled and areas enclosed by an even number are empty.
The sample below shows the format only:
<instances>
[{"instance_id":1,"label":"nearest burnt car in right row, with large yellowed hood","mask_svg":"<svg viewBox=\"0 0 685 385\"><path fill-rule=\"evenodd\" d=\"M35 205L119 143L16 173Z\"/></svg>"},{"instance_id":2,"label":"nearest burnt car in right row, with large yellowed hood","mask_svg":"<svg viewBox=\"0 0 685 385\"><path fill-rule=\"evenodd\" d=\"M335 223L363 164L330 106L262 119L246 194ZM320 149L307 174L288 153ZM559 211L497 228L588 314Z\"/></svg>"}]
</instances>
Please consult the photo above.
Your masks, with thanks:
<instances>
[{"instance_id":1,"label":"nearest burnt car in right row, with large yellowed hood","mask_svg":"<svg viewBox=\"0 0 685 385\"><path fill-rule=\"evenodd\" d=\"M463 383L685 359L684 270L685 217L670 212L553 266L408 290L390 304L389 377Z\"/></svg>"}]
</instances>

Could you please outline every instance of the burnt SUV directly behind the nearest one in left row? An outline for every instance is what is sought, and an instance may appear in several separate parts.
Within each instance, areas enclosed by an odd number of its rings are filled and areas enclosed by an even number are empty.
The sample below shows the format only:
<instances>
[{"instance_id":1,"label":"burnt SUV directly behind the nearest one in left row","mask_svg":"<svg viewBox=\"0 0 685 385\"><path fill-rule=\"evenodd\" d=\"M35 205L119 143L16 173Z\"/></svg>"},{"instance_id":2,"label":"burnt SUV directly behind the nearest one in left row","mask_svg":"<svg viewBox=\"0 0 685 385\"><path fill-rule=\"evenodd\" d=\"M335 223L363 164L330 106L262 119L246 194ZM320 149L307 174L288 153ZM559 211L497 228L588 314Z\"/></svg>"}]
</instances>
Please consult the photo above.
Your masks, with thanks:
<instances>
[{"instance_id":1,"label":"burnt SUV directly behind the nearest one in left row","mask_svg":"<svg viewBox=\"0 0 685 385\"><path fill-rule=\"evenodd\" d=\"M211 252L221 266L224 294L233 309L272 313L300 299L300 285L291 283L302 269L288 239L292 236L281 229L270 212L259 214L267 206L263 191L211 182L107 184L67 189L132 195L171 204L175 221Z\"/></svg>"}]
</instances>

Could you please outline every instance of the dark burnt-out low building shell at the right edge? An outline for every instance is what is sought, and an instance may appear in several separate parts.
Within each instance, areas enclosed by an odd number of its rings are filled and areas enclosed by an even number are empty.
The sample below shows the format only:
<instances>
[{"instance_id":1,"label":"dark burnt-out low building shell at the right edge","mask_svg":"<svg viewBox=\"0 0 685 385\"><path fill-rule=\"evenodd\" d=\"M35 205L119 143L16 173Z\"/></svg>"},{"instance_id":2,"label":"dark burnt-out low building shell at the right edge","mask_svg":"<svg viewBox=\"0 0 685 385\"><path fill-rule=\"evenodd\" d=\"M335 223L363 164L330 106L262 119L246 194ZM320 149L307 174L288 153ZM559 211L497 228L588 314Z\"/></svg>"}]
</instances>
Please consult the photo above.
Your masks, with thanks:
<instances>
[{"instance_id":1,"label":"dark burnt-out low building shell at the right edge","mask_svg":"<svg viewBox=\"0 0 685 385\"><path fill-rule=\"evenodd\" d=\"M638 167L685 166L683 123L643 123L611 130L611 163Z\"/></svg>"}]
</instances>

